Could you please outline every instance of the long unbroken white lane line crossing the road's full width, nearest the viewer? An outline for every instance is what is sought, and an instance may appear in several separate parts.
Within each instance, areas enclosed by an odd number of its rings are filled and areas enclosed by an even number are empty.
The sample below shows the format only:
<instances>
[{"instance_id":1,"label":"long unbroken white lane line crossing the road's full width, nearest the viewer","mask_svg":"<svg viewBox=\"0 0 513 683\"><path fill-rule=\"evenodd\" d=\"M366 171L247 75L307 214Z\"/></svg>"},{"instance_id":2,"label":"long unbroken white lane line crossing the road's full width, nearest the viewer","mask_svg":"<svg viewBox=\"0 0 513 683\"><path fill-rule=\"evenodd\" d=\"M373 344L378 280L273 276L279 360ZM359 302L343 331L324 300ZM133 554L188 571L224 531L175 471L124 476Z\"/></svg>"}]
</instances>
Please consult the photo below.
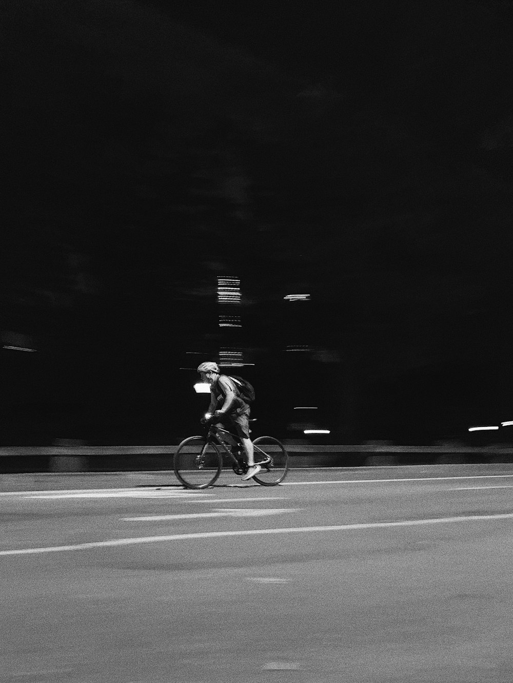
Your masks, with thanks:
<instances>
[{"instance_id":1,"label":"long unbroken white lane line crossing the road's full width, nearest the viewer","mask_svg":"<svg viewBox=\"0 0 513 683\"><path fill-rule=\"evenodd\" d=\"M315 531L354 531L360 529L387 529L390 527L417 527L429 524L450 524L453 522L480 522L500 519L513 519L513 513L472 515L468 517L436 517L415 519L402 522L366 522L365 524L342 524L331 527L286 527L285 529L237 529L234 531L199 531L196 533L173 533L166 536L142 536L140 538L114 538L108 541L80 543L73 546L53 546L49 548L23 548L19 550L0 550L0 555L34 555L35 553L60 553L68 550L90 550L92 548L113 548L140 543L161 543L166 541L196 540L199 538L222 538L223 536L256 536L275 533L313 533Z\"/></svg>"}]
</instances>

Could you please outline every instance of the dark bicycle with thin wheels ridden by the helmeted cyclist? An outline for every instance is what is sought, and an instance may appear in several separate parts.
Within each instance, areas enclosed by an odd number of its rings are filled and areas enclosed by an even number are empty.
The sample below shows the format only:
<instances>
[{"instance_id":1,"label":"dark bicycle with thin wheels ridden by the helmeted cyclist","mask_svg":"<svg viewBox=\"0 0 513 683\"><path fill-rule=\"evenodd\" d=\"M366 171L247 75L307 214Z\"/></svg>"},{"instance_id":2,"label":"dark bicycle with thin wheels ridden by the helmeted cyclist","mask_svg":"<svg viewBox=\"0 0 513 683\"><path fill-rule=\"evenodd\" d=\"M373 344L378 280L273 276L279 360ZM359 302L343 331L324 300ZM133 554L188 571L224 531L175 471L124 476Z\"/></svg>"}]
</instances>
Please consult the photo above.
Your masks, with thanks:
<instances>
[{"instance_id":1,"label":"dark bicycle with thin wheels ridden by the helmeted cyclist","mask_svg":"<svg viewBox=\"0 0 513 683\"><path fill-rule=\"evenodd\" d=\"M280 484L289 469L289 455L285 446L273 436L257 436L253 447L255 463L261 465L262 469L252 479L262 486ZM237 434L210 423L207 436L189 436L176 447L174 473L186 488L207 488L221 474L223 457L235 474L241 476L248 471L244 449Z\"/></svg>"}]
</instances>

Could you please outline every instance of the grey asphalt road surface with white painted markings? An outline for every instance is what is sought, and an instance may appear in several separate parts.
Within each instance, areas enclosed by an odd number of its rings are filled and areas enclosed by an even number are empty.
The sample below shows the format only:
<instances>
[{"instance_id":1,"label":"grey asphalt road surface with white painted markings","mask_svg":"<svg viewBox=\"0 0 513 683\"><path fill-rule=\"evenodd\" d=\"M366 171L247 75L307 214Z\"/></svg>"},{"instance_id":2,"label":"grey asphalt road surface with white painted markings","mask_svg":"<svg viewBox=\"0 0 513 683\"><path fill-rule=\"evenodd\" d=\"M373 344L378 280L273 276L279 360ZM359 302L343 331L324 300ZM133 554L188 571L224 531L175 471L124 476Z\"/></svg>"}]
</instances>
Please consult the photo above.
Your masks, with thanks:
<instances>
[{"instance_id":1,"label":"grey asphalt road surface with white painted markings","mask_svg":"<svg viewBox=\"0 0 513 683\"><path fill-rule=\"evenodd\" d=\"M97 481L0 494L2 682L513 680L508 466Z\"/></svg>"}]
</instances>

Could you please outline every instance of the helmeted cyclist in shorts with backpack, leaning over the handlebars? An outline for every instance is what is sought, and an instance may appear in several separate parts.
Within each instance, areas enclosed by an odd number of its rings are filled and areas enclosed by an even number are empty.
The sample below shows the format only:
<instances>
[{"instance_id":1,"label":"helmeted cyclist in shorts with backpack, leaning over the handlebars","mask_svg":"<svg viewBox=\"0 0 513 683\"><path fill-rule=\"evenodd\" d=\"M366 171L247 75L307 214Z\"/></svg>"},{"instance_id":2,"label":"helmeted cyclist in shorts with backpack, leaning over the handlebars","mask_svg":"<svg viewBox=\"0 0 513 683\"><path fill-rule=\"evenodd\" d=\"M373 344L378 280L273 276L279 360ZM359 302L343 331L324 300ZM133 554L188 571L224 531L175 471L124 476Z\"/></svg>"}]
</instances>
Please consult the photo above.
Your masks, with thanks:
<instances>
[{"instance_id":1,"label":"helmeted cyclist in shorts with backpack, leaning over the handlebars","mask_svg":"<svg viewBox=\"0 0 513 683\"><path fill-rule=\"evenodd\" d=\"M235 428L244 448L248 462L248 472L243 479L251 479L261 471L261 466L254 463L254 449L250 439L250 406L240 397L235 382L228 376L222 375L217 363L201 363L198 366L202 382L210 386L210 404L205 417L219 418L216 427L224 429ZM220 404L222 405L220 406ZM218 407L220 406L220 408Z\"/></svg>"}]
</instances>

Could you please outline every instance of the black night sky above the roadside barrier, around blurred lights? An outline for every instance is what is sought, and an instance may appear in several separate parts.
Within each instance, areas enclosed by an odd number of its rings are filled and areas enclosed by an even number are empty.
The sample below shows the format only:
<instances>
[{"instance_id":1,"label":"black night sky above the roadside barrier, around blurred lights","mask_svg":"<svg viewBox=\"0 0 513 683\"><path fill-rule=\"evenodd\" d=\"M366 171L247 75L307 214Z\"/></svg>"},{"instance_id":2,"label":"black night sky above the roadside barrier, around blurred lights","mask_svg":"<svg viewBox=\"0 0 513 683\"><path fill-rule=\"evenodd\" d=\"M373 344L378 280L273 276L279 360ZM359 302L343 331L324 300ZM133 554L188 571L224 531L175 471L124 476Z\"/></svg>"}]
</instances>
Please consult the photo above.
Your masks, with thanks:
<instances>
[{"instance_id":1,"label":"black night sky above the roadside barrier, around blurred lights","mask_svg":"<svg viewBox=\"0 0 513 683\"><path fill-rule=\"evenodd\" d=\"M276 430L305 386L338 439L511 419L511 2L2 12L0 329L40 350L2 351L4 438L168 441L197 417L185 351L220 346Z\"/></svg>"}]
</instances>

